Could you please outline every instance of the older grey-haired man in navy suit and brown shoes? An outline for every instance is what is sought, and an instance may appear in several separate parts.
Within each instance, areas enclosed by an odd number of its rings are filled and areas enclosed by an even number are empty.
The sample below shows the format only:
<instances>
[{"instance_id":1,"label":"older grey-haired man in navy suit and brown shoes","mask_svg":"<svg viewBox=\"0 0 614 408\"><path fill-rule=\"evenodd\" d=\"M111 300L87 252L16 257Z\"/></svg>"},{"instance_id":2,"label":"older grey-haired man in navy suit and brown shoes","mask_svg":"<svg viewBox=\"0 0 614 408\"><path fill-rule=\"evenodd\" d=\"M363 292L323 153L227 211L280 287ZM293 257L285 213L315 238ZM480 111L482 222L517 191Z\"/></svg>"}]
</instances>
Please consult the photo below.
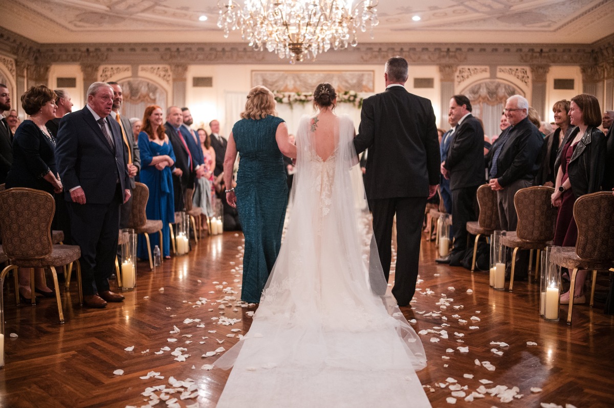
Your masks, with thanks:
<instances>
[{"instance_id":1,"label":"older grey-haired man in navy suit and brown shoes","mask_svg":"<svg viewBox=\"0 0 614 408\"><path fill-rule=\"evenodd\" d=\"M122 131L109 118L113 88L95 82L87 105L62 118L56 160L68 201L71 234L81 248L84 303L105 307L123 296L109 290L119 229L119 207L130 199L130 176L122 148Z\"/></svg>"}]
</instances>

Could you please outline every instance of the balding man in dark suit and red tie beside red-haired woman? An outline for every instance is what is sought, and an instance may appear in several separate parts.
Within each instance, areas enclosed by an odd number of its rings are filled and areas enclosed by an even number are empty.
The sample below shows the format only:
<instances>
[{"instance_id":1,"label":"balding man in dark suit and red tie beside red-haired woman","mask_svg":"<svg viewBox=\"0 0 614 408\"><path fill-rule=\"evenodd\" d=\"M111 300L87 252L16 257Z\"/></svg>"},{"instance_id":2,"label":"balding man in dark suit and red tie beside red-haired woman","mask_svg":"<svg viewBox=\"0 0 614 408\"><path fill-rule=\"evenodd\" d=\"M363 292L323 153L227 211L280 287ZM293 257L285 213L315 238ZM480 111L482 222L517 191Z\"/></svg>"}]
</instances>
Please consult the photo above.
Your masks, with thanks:
<instances>
[{"instance_id":1,"label":"balding man in dark suit and red tie beside red-haired woman","mask_svg":"<svg viewBox=\"0 0 614 408\"><path fill-rule=\"evenodd\" d=\"M187 140L185 140L180 130L182 123L183 115L179 107L170 106L166 109L165 133L171 141L171 145L173 145L173 152L176 158L175 164L172 167L176 211L185 209L185 189L193 187L195 177L195 163L192 160L192 152L190 152Z\"/></svg>"}]
</instances>

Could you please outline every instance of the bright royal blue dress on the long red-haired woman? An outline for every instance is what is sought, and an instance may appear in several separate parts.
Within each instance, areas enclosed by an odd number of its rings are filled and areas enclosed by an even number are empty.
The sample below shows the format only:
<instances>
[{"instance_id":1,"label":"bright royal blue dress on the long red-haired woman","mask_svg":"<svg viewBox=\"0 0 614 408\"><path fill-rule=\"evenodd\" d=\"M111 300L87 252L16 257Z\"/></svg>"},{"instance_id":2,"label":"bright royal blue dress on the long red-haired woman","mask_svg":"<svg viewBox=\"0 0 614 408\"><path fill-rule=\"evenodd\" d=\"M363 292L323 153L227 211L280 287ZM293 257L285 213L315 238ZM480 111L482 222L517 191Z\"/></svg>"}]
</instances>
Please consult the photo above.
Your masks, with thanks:
<instances>
[{"instance_id":1,"label":"bright royal blue dress on the long red-haired woman","mask_svg":"<svg viewBox=\"0 0 614 408\"><path fill-rule=\"evenodd\" d=\"M173 146L169 142L162 145L149 140L147 133L139 134L139 149L141 150L141 183L149 188L149 199L147 199L146 214L148 220L162 220L162 256L171 255L171 235L169 223L175 222L175 204L173 198L173 174L171 167L166 166L161 171L155 166L150 166L154 156L168 155L176 160ZM152 234L149 236L150 245L160 245L160 236ZM144 236L139 235L139 244L136 256L142 260L149 259L147 253L147 241Z\"/></svg>"}]
</instances>

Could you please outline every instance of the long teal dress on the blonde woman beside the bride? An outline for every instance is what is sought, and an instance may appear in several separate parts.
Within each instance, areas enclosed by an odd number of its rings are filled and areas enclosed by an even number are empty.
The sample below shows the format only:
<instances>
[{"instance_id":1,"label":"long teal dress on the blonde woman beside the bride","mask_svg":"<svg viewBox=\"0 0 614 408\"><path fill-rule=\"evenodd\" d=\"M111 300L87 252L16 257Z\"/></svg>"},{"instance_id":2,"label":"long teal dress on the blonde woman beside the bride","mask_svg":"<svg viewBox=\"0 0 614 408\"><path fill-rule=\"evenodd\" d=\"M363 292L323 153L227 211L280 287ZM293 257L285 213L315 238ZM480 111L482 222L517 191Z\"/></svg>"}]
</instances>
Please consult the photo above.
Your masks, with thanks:
<instances>
[{"instance_id":1,"label":"long teal dress on the blonde woman beside the bride","mask_svg":"<svg viewBox=\"0 0 614 408\"><path fill-rule=\"evenodd\" d=\"M258 303L281 247L288 186L283 155L275 140L274 116L242 119L232 133L239 152L236 206L245 236L241 300Z\"/></svg>"}]
</instances>

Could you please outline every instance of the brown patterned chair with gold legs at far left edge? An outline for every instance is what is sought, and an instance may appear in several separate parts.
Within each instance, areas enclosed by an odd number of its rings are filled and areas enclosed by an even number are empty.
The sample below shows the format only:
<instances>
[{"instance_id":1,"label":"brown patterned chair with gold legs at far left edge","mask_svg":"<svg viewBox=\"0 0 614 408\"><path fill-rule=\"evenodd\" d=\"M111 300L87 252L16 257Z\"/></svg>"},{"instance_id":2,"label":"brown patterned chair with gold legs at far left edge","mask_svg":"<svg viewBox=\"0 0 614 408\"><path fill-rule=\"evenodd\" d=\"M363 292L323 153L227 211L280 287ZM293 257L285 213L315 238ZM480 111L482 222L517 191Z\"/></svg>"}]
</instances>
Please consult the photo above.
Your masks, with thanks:
<instances>
[{"instance_id":1,"label":"brown patterned chair with gold legs at far left edge","mask_svg":"<svg viewBox=\"0 0 614 408\"><path fill-rule=\"evenodd\" d=\"M2 226L2 250L9 258L9 265L2 270L0 281L17 268L30 269L31 290L34 294L34 269L49 268L55 285L55 298L58 303L60 323L64 323L64 313L60 299L60 285L55 268L75 262L79 281L79 302L83 304L81 290L81 269L79 258L81 250L76 245L53 245L51 221L55 212L55 201L49 193L32 188L9 188L0 192L0 225ZM15 277L15 301L19 305L19 283ZM0 288L2 290L2 288ZM32 296L34 304L35 296Z\"/></svg>"}]
</instances>

